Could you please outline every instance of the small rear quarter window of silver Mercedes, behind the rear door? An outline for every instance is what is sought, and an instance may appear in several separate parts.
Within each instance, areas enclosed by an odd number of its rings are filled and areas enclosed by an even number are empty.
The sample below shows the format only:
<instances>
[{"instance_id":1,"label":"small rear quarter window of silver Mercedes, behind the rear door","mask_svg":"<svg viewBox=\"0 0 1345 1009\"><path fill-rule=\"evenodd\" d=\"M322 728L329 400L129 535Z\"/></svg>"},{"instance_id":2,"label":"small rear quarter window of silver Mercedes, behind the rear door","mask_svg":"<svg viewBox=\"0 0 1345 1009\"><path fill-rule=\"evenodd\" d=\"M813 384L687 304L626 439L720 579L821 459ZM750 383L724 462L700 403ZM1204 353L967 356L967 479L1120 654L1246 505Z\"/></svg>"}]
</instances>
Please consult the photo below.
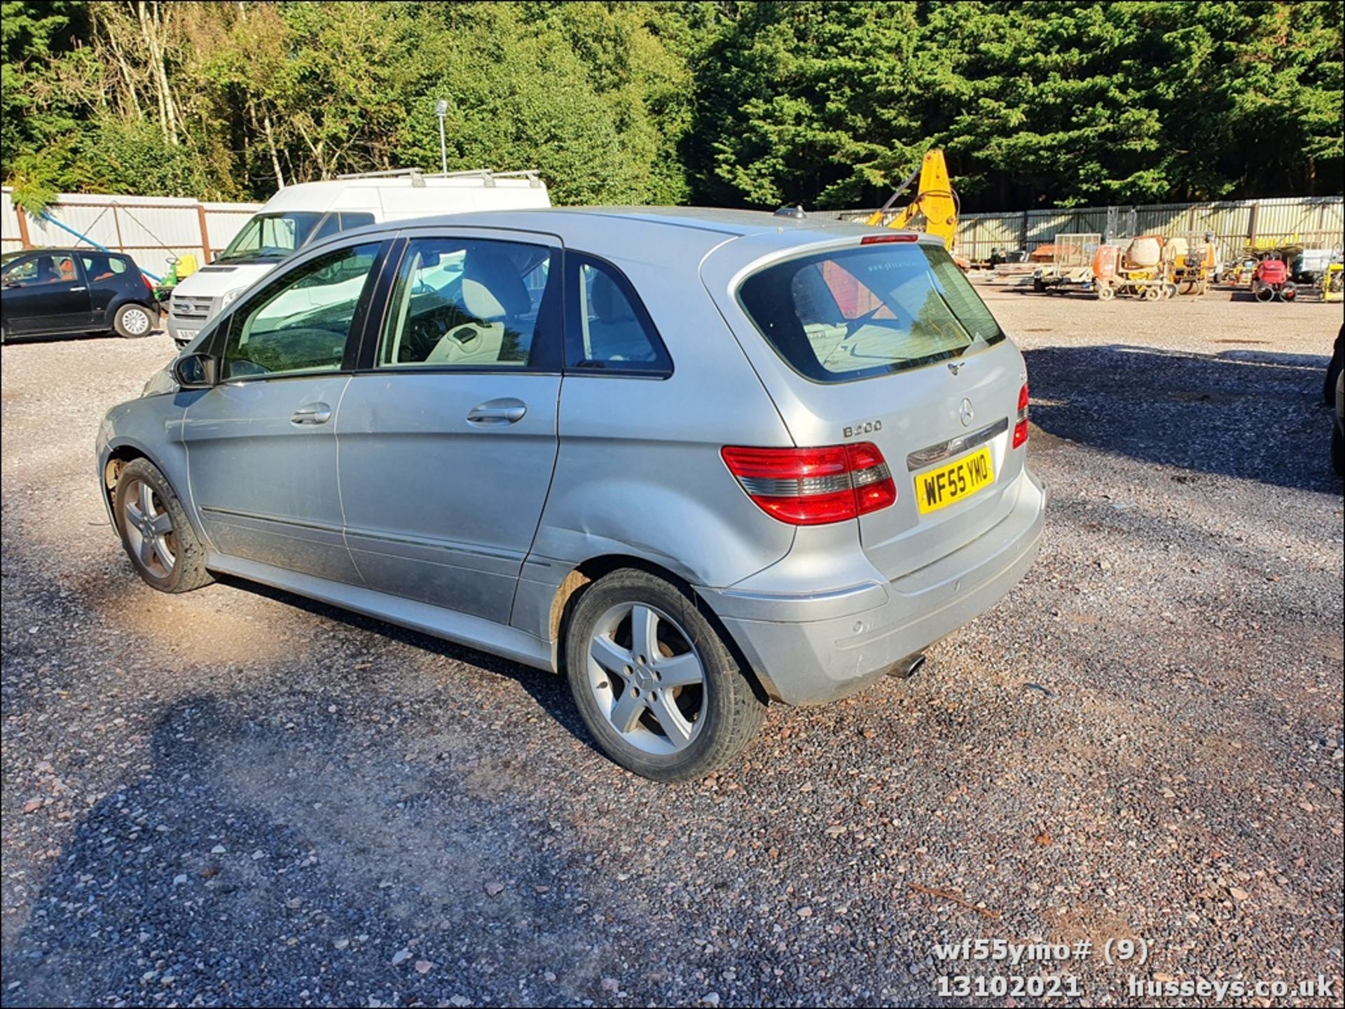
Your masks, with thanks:
<instances>
[{"instance_id":1,"label":"small rear quarter window of silver Mercedes, behind the rear door","mask_svg":"<svg viewBox=\"0 0 1345 1009\"><path fill-rule=\"evenodd\" d=\"M572 368L605 372L668 372L671 361L631 282L611 263L585 255L577 265L576 297L566 326Z\"/></svg>"}]
</instances>

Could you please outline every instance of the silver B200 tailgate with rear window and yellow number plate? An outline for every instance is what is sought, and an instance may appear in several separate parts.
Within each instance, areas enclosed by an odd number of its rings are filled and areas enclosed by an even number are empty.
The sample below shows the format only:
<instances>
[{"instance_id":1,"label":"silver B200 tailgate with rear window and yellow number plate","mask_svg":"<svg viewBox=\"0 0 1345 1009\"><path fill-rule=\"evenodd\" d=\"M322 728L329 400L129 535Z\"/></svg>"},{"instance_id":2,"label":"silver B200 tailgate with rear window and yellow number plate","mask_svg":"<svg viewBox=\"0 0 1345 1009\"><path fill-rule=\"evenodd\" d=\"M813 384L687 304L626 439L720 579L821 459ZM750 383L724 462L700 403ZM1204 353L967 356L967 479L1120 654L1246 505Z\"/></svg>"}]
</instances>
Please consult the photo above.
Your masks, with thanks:
<instances>
[{"instance_id":1,"label":"silver B200 tailgate with rear window and yellow number plate","mask_svg":"<svg viewBox=\"0 0 1345 1009\"><path fill-rule=\"evenodd\" d=\"M702 277L798 446L872 442L882 453L897 500L858 517L859 539L894 579L1013 508L1026 372L940 243L849 234L732 275L722 250Z\"/></svg>"}]
</instances>

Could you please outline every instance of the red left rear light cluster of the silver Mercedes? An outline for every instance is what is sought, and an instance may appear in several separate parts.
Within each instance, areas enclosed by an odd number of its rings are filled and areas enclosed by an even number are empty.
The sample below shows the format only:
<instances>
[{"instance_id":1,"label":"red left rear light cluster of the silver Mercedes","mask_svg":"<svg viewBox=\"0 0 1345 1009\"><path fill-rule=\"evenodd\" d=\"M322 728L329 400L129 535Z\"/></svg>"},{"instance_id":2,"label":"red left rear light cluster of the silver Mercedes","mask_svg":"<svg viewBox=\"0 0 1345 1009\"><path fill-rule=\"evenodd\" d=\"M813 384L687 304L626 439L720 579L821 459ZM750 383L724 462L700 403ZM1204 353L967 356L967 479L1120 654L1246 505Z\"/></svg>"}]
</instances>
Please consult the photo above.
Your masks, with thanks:
<instances>
[{"instance_id":1,"label":"red left rear light cluster of the silver Mercedes","mask_svg":"<svg viewBox=\"0 0 1345 1009\"><path fill-rule=\"evenodd\" d=\"M872 442L820 449L726 446L720 454L748 497L791 525L857 519L897 500L888 464Z\"/></svg>"}]
</instances>

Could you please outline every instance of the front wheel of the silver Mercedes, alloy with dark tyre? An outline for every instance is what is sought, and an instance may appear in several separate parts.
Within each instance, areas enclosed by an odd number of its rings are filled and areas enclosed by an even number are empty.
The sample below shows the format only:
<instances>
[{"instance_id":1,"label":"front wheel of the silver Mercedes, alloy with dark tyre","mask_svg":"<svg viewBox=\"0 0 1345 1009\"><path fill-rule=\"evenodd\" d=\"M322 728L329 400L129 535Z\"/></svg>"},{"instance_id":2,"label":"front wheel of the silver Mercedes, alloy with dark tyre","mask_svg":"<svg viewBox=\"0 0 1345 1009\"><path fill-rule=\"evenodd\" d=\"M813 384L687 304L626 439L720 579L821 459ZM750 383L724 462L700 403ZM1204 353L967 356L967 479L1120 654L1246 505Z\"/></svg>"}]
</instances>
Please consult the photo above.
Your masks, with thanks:
<instances>
[{"instance_id":1,"label":"front wheel of the silver Mercedes, alloy with dark tyre","mask_svg":"<svg viewBox=\"0 0 1345 1009\"><path fill-rule=\"evenodd\" d=\"M132 459L121 469L113 516L126 556L151 588L190 593L214 580L186 508L149 459Z\"/></svg>"}]
</instances>

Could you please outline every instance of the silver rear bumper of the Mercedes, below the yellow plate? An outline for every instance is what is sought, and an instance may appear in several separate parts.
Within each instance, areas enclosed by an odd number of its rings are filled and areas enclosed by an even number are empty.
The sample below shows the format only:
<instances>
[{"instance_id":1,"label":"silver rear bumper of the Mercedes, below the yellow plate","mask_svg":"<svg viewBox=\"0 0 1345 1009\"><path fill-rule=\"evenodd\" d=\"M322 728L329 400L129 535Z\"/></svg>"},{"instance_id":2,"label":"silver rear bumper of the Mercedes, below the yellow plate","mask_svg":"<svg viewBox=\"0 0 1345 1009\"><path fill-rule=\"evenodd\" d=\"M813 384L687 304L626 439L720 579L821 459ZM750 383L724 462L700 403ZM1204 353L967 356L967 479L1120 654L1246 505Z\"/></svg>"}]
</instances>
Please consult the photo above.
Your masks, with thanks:
<instances>
[{"instance_id":1,"label":"silver rear bumper of the Mercedes, below the yellow plate","mask_svg":"<svg viewBox=\"0 0 1345 1009\"><path fill-rule=\"evenodd\" d=\"M1045 505L1045 489L1026 472L1013 511L994 528L885 586L775 601L699 591L772 697L822 704L862 689L1003 598L1037 558ZM779 618L763 619L767 609Z\"/></svg>"}]
</instances>

